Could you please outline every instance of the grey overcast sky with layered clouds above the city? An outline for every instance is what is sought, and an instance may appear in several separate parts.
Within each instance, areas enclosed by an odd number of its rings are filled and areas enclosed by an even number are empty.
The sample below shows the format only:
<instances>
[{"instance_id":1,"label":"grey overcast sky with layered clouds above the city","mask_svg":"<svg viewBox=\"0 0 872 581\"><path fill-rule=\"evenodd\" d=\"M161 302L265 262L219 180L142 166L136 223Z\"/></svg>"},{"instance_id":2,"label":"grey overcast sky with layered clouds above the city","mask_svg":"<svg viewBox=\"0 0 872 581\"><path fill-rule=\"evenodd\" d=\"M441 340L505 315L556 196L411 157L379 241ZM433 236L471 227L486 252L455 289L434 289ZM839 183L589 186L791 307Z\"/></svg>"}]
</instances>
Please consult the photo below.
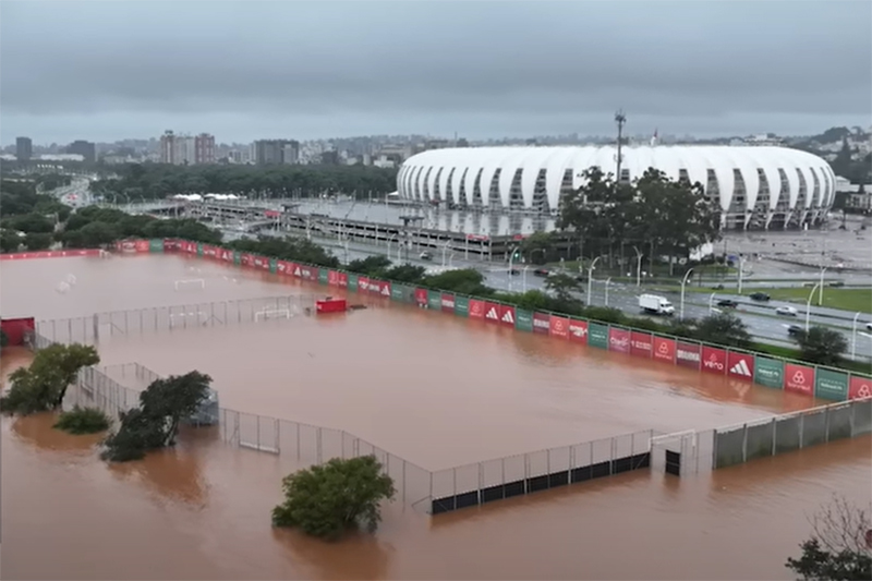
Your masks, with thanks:
<instances>
[{"instance_id":1,"label":"grey overcast sky with layered clouds above the city","mask_svg":"<svg viewBox=\"0 0 872 581\"><path fill-rule=\"evenodd\" d=\"M0 141L819 133L872 124L872 2L0 2Z\"/></svg>"}]
</instances>

